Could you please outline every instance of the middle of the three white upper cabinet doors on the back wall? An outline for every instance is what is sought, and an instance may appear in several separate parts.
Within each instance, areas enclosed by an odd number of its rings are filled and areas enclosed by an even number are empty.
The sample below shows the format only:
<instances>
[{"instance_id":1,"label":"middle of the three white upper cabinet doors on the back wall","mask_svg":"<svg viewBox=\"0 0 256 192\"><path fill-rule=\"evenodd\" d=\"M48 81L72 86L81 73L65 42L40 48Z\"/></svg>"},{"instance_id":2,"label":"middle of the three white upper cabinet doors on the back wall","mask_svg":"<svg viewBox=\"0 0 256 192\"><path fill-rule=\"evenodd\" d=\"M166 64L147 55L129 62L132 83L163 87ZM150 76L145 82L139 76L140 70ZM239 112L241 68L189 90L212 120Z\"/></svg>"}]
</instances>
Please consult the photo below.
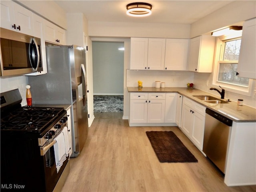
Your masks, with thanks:
<instances>
[{"instance_id":1,"label":"middle of the three white upper cabinet doors on the back wall","mask_svg":"<svg viewBox=\"0 0 256 192\"><path fill-rule=\"evenodd\" d=\"M148 39L148 69L164 70L165 39Z\"/></svg>"}]
</instances>

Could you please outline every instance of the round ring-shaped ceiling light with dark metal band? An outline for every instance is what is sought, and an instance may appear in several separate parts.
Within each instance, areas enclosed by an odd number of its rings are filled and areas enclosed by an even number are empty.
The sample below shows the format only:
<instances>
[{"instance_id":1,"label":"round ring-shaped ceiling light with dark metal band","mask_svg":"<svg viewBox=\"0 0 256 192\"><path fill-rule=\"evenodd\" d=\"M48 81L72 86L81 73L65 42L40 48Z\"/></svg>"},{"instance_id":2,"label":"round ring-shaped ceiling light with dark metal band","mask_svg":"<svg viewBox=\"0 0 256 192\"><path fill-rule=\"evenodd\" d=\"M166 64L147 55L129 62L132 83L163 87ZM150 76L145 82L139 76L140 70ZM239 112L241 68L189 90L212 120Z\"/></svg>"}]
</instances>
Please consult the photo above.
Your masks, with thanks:
<instances>
[{"instance_id":1,"label":"round ring-shaped ceiling light with dark metal band","mask_svg":"<svg viewBox=\"0 0 256 192\"><path fill-rule=\"evenodd\" d=\"M126 5L126 14L134 17L151 15L152 5L149 3L130 3Z\"/></svg>"}]
</instances>

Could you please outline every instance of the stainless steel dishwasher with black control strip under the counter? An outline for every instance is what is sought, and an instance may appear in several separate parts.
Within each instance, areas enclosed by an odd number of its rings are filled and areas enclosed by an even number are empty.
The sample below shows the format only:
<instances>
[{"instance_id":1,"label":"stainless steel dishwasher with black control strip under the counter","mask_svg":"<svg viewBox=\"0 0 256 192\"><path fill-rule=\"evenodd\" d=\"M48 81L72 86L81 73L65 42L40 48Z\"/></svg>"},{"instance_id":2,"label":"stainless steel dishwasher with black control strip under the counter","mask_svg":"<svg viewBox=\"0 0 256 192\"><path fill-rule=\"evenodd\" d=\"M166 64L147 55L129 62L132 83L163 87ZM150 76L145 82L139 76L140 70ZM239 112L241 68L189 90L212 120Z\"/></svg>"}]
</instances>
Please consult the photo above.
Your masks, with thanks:
<instances>
[{"instance_id":1,"label":"stainless steel dishwasher with black control strip under the counter","mask_svg":"<svg viewBox=\"0 0 256 192\"><path fill-rule=\"evenodd\" d=\"M206 108L203 152L225 174L233 121Z\"/></svg>"}]
</instances>

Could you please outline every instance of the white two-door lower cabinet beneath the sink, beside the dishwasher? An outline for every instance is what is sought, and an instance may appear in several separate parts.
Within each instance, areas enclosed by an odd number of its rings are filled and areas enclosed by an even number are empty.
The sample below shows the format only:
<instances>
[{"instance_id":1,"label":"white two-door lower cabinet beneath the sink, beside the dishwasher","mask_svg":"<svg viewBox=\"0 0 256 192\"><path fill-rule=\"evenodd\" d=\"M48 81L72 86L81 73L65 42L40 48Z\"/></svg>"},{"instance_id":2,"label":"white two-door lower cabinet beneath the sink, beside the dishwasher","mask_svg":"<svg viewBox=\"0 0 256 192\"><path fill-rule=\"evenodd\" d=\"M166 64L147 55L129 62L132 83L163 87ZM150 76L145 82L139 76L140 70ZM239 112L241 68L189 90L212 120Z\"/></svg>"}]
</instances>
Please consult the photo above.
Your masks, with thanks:
<instances>
[{"instance_id":1,"label":"white two-door lower cabinet beneath the sink, beside the dishwasher","mask_svg":"<svg viewBox=\"0 0 256 192\"><path fill-rule=\"evenodd\" d=\"M181 129L200 149L203 149L206 108L186 97L182 101Z\"/></svg>"}]
</instances>

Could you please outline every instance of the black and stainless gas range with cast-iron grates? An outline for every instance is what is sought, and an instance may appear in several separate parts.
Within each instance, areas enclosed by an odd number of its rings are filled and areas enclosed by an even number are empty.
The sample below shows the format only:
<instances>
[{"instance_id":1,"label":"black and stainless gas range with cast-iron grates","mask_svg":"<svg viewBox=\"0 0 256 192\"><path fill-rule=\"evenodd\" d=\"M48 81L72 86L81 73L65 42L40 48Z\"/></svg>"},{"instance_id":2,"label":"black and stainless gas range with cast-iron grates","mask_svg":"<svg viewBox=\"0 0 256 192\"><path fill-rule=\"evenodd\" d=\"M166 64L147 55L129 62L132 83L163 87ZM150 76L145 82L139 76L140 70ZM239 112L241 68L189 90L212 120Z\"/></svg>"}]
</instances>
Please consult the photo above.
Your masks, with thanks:
<instances>
[{"instance_id":1,"label":"black and stainless gas range with cast-iron grates","mask_svg":"<svg viewBox=\"0 0 256 192\"><path fill-rule=\"evenodd\" d=\"M1 93L0 98L1 191L52 192L68 167L67 156L57 171L53 146L68 128L66 110L21 107L18 89Z\"/></svg>"}]
</instances>

